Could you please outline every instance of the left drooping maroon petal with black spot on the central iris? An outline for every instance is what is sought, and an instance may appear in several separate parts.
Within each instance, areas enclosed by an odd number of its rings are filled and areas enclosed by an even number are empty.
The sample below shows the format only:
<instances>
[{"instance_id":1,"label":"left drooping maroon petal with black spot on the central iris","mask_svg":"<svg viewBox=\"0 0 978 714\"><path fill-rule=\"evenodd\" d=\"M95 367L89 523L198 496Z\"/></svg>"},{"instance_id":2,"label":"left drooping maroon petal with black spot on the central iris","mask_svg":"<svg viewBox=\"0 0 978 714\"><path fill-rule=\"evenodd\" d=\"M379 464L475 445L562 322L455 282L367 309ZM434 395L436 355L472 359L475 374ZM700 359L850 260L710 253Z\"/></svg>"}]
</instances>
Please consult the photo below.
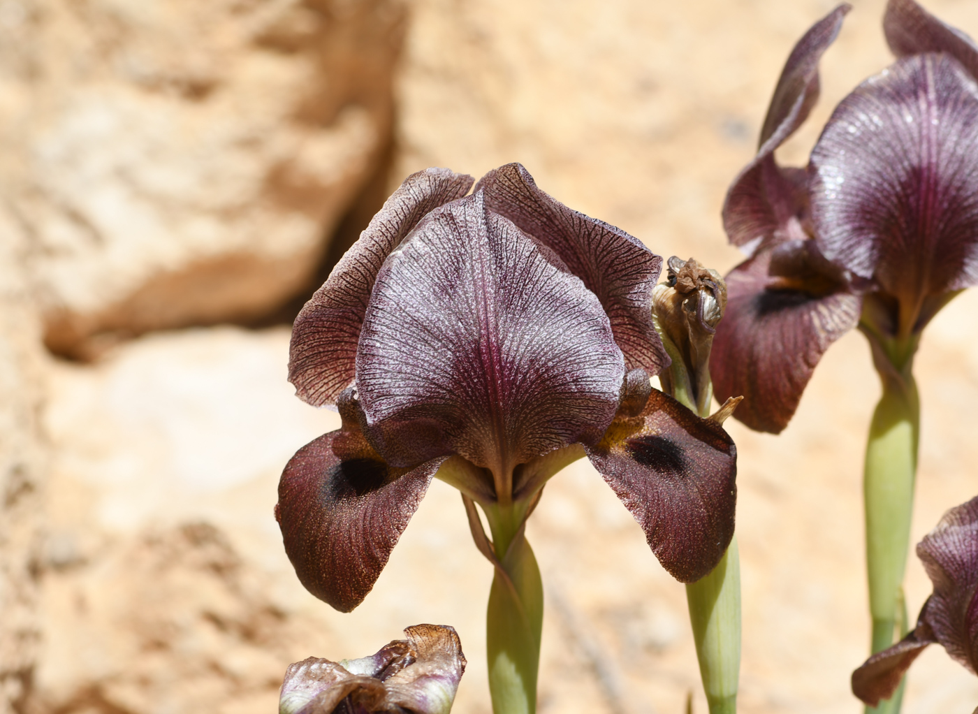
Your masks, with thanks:
<instances>
[{"instance_id":1,"label":"left drooping maroon petal with black spot on the central iris","mask_svg":"<svg viewBox=\"0 0 978 714\"><path fill-rule=\"evenodd\" d=\"M366 443L354 448L356 439L339 429L299 449L282 473L275 507L299 581L342 612L374 587L444 461L392 469Z\"/></svg>"}]
</instances>

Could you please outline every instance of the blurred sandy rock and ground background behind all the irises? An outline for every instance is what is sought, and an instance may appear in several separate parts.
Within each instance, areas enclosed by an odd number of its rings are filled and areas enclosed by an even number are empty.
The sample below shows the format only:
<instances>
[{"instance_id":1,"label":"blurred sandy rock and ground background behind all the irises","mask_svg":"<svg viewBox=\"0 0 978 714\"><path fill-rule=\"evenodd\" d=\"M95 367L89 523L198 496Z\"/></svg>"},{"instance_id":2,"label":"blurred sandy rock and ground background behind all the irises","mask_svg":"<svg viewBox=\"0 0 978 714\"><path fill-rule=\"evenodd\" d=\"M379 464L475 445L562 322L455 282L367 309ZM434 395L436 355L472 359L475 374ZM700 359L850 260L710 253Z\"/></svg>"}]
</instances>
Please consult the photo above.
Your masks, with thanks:
<instances>
[{"instance_id":1,"label":"blurred sandy rock and ground background behind all the irises","mask_svg":"<svg viewBox=\"0 0 978 714\"><path fill-rule=\"evenodd\" d=\"M890 63L883 0L822 62L779 152ZM929 0L978 33L974 0ZM719 213L795 40L827 0L0 0L0 712L258 714L289 662L452 624L455 711L488 714L492 572L435 481L352 614L299 586L272 517L338 420L292 395L289 326L410 172L519 160L558 200L722 272ZM931 327L914 542L975 495L978 291ZM861 711L861 469L878 386L851 334L778 437L735 423L740 711ZM528 527L540 711L705 712L683 587L587 464ZM911 557L911 616L930 592ZM908 714L967 714L939 647Z\"/></svg>"}]
</instances>

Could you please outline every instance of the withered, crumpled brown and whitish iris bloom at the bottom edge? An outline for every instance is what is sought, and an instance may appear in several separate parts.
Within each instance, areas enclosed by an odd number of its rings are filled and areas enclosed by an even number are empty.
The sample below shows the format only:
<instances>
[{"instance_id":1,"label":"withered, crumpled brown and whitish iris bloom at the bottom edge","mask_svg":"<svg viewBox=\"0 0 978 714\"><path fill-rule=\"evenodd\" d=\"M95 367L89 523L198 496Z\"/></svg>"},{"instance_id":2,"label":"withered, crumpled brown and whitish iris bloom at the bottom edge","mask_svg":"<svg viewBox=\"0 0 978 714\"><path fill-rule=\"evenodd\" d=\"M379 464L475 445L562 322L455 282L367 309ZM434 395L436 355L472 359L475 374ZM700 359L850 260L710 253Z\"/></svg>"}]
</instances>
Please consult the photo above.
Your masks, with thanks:
<instances>
[{"instance_id":1,"label":"withered, crumpled brown and whitish iris bloom at the bottom edge","mask_svg":"<svg viewBox=\"0 0 978 714\"><path fill-rule=\"evenodd\" d=\"M279 714L448 714L466 671L455 628L415 625L377 654L289 665Z\"/></svg>"}]
</instances>

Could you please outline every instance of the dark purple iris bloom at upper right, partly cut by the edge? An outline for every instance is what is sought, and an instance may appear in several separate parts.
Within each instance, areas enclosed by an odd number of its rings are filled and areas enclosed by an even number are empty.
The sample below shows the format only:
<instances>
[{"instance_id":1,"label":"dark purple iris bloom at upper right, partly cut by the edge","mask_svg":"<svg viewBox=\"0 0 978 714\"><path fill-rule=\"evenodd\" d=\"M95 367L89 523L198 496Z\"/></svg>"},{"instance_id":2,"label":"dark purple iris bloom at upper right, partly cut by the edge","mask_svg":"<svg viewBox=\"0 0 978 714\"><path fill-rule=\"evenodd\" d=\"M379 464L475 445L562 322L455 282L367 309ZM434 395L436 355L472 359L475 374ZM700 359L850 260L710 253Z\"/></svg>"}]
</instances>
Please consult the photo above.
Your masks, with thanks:
<instances>
[{"instance_id":1,"label":"dark purple iris bloom at upper right, partly cut by the edge","mask_svg":"<svg viewBox=\"0 0 978 714\"><path fill-rule=\"evenodd\" d=\"M896 63L832 113L807 168L775 150L819 96L819 60L848 5L799 40L778 79L757 156L734 180L724 227L750 258L727 278L710 371L743 394L744 424L787 425L828 345L916 335L978 283L978 46L912 0L890 0ZM875 340L875 341L874 341Z\"/></svg>"}]
</instances>

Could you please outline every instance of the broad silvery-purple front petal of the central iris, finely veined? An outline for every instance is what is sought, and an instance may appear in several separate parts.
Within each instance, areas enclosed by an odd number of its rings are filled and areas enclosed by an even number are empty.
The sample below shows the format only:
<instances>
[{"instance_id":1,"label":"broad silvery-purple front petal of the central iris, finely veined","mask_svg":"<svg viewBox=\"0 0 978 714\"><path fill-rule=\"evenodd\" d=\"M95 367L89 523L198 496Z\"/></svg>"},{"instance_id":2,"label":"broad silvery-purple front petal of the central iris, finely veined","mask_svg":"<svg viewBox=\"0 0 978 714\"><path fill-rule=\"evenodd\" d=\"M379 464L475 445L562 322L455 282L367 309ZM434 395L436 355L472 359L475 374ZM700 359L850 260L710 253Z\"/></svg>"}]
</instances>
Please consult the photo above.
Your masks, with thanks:
<instances>
[{"instance_id":1,"label":"broad silvery-purple front petal of the central iris, finely veined","mask_svg":"<svg viewBox=\"0 0 978 714\"><path fill-rule=\"evenodd\" d=\"M481 192L432 211L387 259L357 355L385 459L457 453L496 474L597 442L624 375L595 294Z\"/></svg>"}]
</instances>

